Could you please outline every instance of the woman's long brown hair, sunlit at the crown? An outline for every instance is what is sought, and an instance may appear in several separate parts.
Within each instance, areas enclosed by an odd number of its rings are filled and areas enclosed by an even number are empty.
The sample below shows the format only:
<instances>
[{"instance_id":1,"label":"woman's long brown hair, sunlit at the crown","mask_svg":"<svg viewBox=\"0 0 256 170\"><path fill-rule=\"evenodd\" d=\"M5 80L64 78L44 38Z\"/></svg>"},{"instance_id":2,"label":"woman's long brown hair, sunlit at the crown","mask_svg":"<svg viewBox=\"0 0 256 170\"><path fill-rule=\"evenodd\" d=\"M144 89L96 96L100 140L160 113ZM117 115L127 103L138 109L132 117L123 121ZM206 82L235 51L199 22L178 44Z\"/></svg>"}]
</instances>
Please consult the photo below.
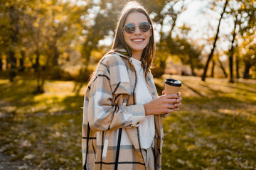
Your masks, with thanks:
<instances>
[{"instance_id":1,"label":"woman's long brown hair, sunlit at the crown","mask_svg":"<svg viewBox=\"0 0 256 170\"><path fill-rule=\"evenodd\" d=\"M153 61L154 61L154 57L155 57L155 50L156 50L155 48L156 47L155 47L155 42L154 42L153 22L151 21L151 18L149 18L149 13L147 13L146 9L141 4L139 4L137 1L129 1L122 9L122 12L117 21L117 28L115 31L116 33L114 35L114 42L113 42L112 47L110 48L110 51L107 52L107 54L111 54L113 52L120 52L124 55L132 57L132 50L127 45L127 42L125 42L125 40L124 40L124 34L123 34L122 28L124 28L124 23L127 19L127 16L129 15L129 13L132 13L134 11L143 13L146 16L148 22L152 26L152 29L151 29L152 34L149 38L148 45L146 45L146 47L144 48L144 50L142 52L142 59L141 59L142 67L144 68L145 79L146 79L146 75L149 73L149 69L151 67L153 67ZM123 52L122 51L123 49L126 50L126 52ZM100 64L100 62L98 63L98 65L99 64ZM131 64L131 66L132 66L132 64ZM94 75L95 75L95 72L92 73L92 75L90 77L90 81L92 81L92 78L94 77ZM147 80L146 80L146 82L147 82Z\"/></svg>"}]
</instances>

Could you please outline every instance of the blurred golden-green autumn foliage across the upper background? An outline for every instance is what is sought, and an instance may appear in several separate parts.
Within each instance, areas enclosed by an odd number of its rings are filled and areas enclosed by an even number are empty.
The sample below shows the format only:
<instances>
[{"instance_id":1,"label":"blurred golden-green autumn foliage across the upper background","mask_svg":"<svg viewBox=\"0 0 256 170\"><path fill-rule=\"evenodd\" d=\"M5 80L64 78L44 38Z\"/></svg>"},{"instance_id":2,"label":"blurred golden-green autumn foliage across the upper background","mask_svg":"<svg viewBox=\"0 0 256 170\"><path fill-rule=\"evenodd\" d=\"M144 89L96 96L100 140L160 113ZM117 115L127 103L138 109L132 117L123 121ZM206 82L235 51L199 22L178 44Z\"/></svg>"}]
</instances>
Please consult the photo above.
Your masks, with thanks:
<instances>
[{"instance_id":1,"label":"blurred golden-green autumn foliage across the upper background","mask_svg":"<svg viewBox=\"0 0 256 170\"><path fill-rule=\"evenodd\" d=\"M78 65L81 69L84 69L83 66L90 67L90 64L97 62L92 53L106 52L109 48L100 42L105 38L110 41L114 38L119 11L126 2L102 0L86 1L82 4L80 1L1 1L0 59L3 60L4 68L9 69L11 66L12 72L20 72L23 69L17 69L18 67L33 67L35 71L50 70L55 66L63 68L63 65L68 64ZM186 24L181 27L176 26L178 17L186 11L189 1L142 0L140 2L148 9L154 21L155 33L160 39L156 42L154 74L156 76L164 74L166 61L174 56L183 64L189 65L192 74L194 74L193 69L201 69L202 60L206 56L202 55L201 51L211 44L210 38L213 36L209 35L209 40L198 45L197 41L200 40L188 36L191 35L193 26ZM211 8L207 9L206 6L202 10L215 10L216 6L223 4L222 1L211 1L209 6ZM239 70L245 72L248 78L255 77L254 60L248 60L253 57L252 52L255 52L255 49L249 52L246 50L247 47L241 48L246 45L240 44L249 38L249 35L255 34L255 1L229 1L226 14L228 14L226 18L232 19L235 16L238 18L235 44L239 48L234 56L239 56L238 60L242 63ZM169 30L166 30L166 27L169 27ZM246 55L239 54L242 50L245 50ZM221 53L223 52L218 52ZM53 77L59 76L53 75ZM44 78L38 74L38 79Z\"/></svg>"}]
</instances>

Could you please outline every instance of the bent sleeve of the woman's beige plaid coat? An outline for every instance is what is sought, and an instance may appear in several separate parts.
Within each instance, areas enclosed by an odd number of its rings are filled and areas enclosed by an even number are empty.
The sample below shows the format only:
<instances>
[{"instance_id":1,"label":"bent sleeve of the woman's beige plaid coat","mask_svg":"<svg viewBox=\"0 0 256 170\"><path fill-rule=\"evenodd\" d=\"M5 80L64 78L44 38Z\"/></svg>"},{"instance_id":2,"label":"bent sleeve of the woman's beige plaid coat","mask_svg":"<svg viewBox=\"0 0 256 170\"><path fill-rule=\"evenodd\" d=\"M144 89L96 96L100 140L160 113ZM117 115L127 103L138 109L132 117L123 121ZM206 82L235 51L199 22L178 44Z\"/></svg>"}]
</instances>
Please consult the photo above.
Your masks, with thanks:
<instances>
[{"instance_id":1,"label":"bent sleeve of the woman's beige plaid coat","mask_svg":"<svg viewBox=\"0 0 256 170\"><path fill-rule=\"evenodd\" d=\"M91 83L87 118L92 130L137 127L144 121L144 106L142 104L127 106L130 84L125 81L113 82L110 74L116 73L97 70ZM128 77L128 74L123 76Z\"/></svg>"}]
</instances>

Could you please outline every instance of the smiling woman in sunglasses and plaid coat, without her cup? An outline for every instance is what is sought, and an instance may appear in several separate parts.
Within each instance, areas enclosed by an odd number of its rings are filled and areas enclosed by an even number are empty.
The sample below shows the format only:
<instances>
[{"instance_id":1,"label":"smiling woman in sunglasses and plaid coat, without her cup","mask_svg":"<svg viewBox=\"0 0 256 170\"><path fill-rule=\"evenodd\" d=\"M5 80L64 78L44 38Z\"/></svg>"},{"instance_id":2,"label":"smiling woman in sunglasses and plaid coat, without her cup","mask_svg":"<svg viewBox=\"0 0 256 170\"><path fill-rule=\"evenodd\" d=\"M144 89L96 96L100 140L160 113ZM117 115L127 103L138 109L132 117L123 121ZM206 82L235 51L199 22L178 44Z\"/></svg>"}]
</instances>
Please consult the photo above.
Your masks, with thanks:
<instances>
[{"instance_id":1,"label":"smiling woman in sunglasses and plaid coat, without her cup","mask_svg":"<svg viewBox=\"0 0 256 170\"><path fill-rule=\"evenodd\" d=\"M143 6L127 3L112 50L102 57L85 91L82 123L84 169L161 169L164 113L181 95L158 96L150 67L154 30Z\"/></svg>"}]
</instances>

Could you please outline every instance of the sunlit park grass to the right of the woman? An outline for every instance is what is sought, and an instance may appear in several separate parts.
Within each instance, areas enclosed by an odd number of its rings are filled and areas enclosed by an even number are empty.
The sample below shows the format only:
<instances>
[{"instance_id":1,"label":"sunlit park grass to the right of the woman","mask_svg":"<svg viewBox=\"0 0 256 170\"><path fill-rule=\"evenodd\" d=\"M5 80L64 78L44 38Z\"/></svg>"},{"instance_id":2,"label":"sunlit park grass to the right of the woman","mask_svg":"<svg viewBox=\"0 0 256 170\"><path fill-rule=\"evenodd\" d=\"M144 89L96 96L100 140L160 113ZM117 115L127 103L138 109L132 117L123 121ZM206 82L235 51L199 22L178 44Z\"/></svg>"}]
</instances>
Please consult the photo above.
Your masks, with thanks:
<instances>
[{"instance_id":1,"label":"sunlit park grass to the right of the woman","mask_svg":"<svg viewBox=\"0 0 256 170\"><path fill-rule=\"evenodd\" d=\"M256 86L172 77L181 111L164 120L163 169L256 169Z\"/></svg>"}]
</instances>

